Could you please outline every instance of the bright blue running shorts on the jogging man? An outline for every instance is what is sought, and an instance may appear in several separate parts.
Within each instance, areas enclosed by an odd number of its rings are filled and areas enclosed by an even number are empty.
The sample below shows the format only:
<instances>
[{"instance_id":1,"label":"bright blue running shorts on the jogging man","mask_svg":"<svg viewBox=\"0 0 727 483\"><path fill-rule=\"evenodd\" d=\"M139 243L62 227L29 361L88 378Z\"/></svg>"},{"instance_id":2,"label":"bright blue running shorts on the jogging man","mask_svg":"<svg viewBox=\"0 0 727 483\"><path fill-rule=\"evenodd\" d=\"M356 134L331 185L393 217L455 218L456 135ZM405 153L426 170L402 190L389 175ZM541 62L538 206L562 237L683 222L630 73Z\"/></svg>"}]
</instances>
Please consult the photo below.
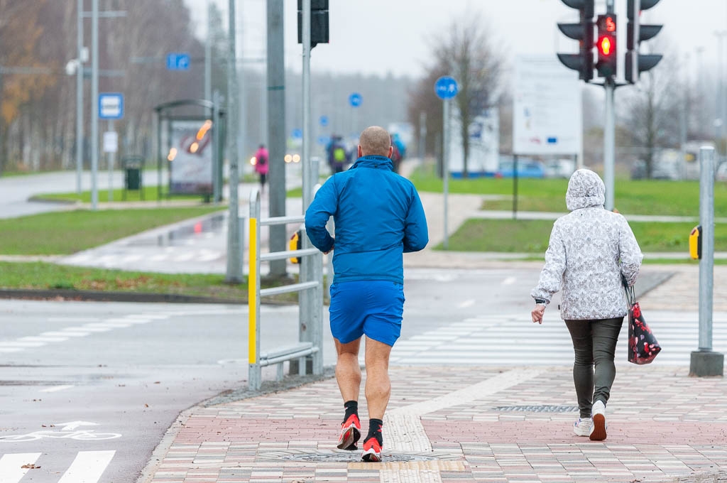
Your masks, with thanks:
<instances>
[{"instance_id":1,"label":"bright blue running shorts on the jogging man","mask_svg":"<svg viewBox=\"0 0 727 483\"><path fill-rule=\"evenodd\" d=\"M331 332L348 344L361 335L393 346L401 334L404 287L385 280L342 282L331 286Z\"/></svg>"}]
</instances>

